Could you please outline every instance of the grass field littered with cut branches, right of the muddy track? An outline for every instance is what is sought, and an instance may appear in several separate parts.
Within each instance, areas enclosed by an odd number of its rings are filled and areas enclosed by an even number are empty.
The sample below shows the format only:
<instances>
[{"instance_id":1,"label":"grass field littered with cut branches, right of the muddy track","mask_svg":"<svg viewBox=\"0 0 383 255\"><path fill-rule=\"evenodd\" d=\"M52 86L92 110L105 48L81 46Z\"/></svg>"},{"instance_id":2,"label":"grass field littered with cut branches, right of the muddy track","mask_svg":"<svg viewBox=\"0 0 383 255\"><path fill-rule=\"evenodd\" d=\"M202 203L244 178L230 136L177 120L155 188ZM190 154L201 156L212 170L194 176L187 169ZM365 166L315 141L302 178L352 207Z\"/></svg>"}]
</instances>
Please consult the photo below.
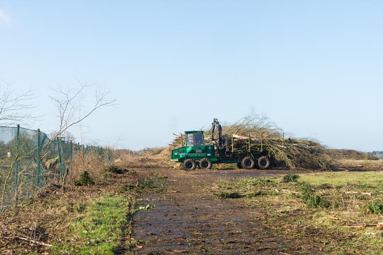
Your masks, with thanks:
<instances>
[{"instance_id":1,"label":"grass field littered with cut branches, right of the muddy track","mask_svg":"<svg viewBox=\"0 0 383 255\"><path fill-rule=\"evenodd\" d=\"M286 239L312 236L312 242L337 242L338 249L325 250L334 254L381 254L382 183L381 171L320 172L236 178L216 183L211 192L261 209L261 216L254 220Z\"/></svg>"}]
</instances>

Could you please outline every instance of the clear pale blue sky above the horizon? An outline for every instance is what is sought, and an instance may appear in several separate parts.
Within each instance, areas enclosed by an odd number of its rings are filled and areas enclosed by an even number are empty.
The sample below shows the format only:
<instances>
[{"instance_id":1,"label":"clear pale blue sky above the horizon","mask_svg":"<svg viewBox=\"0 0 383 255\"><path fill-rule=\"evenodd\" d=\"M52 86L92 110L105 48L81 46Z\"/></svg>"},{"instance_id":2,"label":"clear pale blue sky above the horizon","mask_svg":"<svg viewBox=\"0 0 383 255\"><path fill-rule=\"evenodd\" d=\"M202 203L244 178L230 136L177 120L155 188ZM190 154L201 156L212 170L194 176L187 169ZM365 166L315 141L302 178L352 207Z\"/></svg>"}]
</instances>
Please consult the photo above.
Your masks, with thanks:
<instances>
[{"instance_id":1,"label":"clear pale blue sky above the horizon","mask_svg":"<svg viewBox=\"0 0 383 255\"><path fill-rule=\"evenodd\" d=\"M117 105L82 123L84 142L164 146L253 107L294 137L382 150L382 13L382 1L0 0L0 79L35 90L45 117L31 128L47 133L50 86L110 89Z\"/></svg>"}]
</instances>

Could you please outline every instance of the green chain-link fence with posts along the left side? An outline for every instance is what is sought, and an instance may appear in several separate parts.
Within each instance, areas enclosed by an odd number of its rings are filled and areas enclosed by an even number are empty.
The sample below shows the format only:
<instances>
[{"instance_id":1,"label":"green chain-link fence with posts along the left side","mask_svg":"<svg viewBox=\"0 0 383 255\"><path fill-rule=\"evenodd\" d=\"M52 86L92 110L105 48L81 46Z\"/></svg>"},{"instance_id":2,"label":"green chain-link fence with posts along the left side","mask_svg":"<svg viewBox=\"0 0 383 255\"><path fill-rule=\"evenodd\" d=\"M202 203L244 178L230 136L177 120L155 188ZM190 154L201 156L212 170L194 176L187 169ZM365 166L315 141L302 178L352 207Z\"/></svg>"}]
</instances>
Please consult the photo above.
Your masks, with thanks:
<instances>
[{"instance_id":1,"label":"green chain-link fence with posts along the left side","mask_svg":"<svg viewBox=\"0 0 383 255\"><path fill-rule=\"evenodd\" d=\"M50 140L40 130L0 126L0 212L14 202L33 197L49 183L63 184L74 156L98 154L106 164L114 161L113 150L86 146L57 137Z\"/></svg>"}]
</instances>

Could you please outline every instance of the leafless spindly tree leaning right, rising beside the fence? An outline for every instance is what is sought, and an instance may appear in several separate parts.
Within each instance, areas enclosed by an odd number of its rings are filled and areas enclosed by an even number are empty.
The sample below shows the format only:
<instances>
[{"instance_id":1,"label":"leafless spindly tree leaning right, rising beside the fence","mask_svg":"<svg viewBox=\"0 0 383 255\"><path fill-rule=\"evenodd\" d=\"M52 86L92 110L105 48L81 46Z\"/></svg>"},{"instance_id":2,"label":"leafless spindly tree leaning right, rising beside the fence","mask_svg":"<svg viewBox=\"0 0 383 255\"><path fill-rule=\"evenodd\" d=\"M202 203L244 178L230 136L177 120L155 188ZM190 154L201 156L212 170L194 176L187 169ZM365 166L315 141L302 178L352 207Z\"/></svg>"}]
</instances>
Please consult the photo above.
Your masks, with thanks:
<instances>
[{"instance_id":1,"label":"leafless spindly tree leaning right, rising beside the fence","mask_svg":"<svg viewBox=\"0 0 383 255\"><path fill-rule=\"evenodd\" d=\"M69 127L80 123L97 109L113 106L115 103L115 99L109 98L110 91L101 88L98 84L88 85L81 83L77 78L76 80L79 86L75 89L69 87L52 88L56 95L51 96L51 99L56 103L59 118L58 132L52 139L65 134ZM82 99L86 94L89 94L91 89L94 89L93 101L91 107L86 108L82 104Z\"/></svg>"}]
</instances>

